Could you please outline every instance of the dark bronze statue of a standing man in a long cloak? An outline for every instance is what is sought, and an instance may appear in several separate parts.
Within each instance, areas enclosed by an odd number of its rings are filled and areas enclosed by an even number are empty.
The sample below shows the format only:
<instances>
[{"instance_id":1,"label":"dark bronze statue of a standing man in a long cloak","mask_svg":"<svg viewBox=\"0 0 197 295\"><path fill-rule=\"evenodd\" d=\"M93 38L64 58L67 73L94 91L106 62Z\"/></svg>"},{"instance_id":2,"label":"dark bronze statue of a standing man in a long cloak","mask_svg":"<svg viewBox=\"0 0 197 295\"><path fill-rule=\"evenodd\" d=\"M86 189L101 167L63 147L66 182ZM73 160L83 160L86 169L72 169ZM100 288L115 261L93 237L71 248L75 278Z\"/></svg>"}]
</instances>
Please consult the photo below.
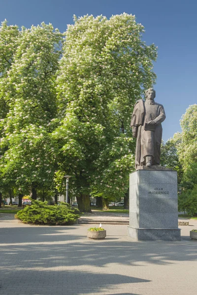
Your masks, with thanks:
<instances>
[{"instance_id":1,"label":"dark bronze statue of a standing man in a long cloak","mask_svg":"<svg viewBox=\"0 0 197 295\"><path fill-rule=\"evenodd\" d=\"M160 165L162 122L165 119L163 105L156 103L153 88L146 90L146 100L139 99L131 118L132 134L136 137L135 169L141 166Z\"/></svg>"}]
</instances>

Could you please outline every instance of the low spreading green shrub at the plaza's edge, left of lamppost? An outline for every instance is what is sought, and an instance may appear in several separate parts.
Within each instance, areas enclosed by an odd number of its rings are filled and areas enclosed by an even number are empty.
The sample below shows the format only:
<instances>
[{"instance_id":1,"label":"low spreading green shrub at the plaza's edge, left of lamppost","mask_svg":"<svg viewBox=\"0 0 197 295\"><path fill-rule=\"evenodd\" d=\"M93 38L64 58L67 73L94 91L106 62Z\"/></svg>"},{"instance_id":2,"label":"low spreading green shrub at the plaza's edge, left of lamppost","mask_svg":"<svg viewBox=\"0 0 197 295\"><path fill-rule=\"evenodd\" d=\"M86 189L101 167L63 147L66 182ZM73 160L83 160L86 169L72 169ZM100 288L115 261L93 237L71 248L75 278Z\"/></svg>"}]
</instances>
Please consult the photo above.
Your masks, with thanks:
<instances>
[{"instance_id":1,"label":"low spreading green shrub at the plaza's edge, left of lamppost","mask_svg":"<svg viewBox=\"0 0 197 295\"><path fill-rule=\"evenodd\" d=\"M78 209L66 203L49 206L47 201L32 200L32 206L20 210L15 217L24 223L68 225L75 223L80 215Z\"/></svg>"}]
</instances>

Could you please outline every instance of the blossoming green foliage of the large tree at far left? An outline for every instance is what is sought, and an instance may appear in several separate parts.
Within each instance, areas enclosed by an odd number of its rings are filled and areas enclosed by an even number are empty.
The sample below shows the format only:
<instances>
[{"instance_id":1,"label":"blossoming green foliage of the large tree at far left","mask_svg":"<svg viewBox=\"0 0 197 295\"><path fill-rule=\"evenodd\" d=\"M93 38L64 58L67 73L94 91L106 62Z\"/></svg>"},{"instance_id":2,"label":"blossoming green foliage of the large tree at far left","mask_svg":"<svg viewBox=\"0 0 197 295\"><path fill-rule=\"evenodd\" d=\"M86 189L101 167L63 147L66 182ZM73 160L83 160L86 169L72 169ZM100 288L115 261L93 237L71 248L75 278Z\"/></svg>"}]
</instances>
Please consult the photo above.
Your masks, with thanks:
<instances>
[{"instance_id":1,"label":"blossoming green foliage of the large tree at far left","mask_svg":"<svg viewBox=\"0 0 197 295\"><path fill-rule=\"evenodd\" d=\"M44 23L14 32L17 47L3 84L9 112L0 123L0 172L2 183L27 193L31 186L35 190L53 181L57 152L50 133L62 34Z\"/></svg>"}]
</instances>

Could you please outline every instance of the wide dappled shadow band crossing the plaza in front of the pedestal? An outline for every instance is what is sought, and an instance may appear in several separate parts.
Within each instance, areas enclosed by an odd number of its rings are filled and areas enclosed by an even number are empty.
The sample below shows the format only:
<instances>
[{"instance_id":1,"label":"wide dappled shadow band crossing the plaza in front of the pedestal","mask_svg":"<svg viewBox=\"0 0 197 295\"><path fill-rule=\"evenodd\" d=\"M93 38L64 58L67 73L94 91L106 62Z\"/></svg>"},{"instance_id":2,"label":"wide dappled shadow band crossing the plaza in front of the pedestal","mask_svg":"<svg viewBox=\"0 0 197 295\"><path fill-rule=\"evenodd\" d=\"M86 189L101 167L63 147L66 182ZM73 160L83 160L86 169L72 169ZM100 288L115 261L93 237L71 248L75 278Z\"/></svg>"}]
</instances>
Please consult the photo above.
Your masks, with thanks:
<instances>
[{"instance_id":1,"label":"wide dappled shadow band crossing the plaza in front of the pedestal","mask_svg":"<svg viewBox=\"0 0 197 295\"><path fill-rule=\"evenodd\" d=\"M117 236L105 240L86 237L86 228L80 226L25 227L0 229L0 253L8 266L13 265L9 252L19 255L18 267L30 257L29 267L50 261L53 267L60 259L59 266L105 266L107 264L136 265L138 262L166 265L173 261L197 260L196 241L140 241L132 242ZM184 239L185 238L185 239ZM54 257L55 256L55 257Z\"/></svg>"}]
</instances>

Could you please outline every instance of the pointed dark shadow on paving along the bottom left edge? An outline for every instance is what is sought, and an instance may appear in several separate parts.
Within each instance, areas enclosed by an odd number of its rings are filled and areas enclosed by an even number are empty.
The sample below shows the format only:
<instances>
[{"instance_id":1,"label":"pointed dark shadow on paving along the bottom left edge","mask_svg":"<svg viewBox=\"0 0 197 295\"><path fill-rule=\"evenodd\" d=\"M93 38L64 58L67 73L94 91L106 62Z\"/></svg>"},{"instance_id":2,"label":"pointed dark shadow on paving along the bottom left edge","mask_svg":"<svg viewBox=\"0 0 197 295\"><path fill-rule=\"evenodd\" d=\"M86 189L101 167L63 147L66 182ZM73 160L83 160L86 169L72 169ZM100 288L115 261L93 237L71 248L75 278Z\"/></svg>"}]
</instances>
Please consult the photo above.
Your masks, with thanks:
<instances>
[{"instance_id":1,"label":"pointed dark shadow on paving along the bottom left edge","mask_svg":"<svg viewBox=\"0 0 197 295\"><path fill-rule=\"evenodd\" d=\"M36 282L39 282L38 277L40 275L41 273L32 270L31 278L29 279L31 279L31 283L34 284L34 286L36 285ZM87 271L59 271L58 280L54 280L53 272L48 272L47 276L45 276L41 281L41 284L37 284L37 288L35 286L35 289L33 291L32 288L30 288L30 284L28 284L28 280L25 281L24 278L22 279L20 273L16 273L16 275L14 276L14 281L10 281L9 278L3 280L0 290L3 292L3 294L10 295L12 294L10 290L13 290L14 295L78 295L89 294L94 292L99 292L99 294L105 294L106 290L109 292L110 289L116 288L116 285L119 285L119 288L121 288L121 284L148 282L150 282L150 280L144 280L141 278L119 274L100 274L91 273ZM58 291L60 292L60 290L62 290L62 293L58 293ZM121 292L120 289L119 292Z\"/></svg>"}]
</instances>

